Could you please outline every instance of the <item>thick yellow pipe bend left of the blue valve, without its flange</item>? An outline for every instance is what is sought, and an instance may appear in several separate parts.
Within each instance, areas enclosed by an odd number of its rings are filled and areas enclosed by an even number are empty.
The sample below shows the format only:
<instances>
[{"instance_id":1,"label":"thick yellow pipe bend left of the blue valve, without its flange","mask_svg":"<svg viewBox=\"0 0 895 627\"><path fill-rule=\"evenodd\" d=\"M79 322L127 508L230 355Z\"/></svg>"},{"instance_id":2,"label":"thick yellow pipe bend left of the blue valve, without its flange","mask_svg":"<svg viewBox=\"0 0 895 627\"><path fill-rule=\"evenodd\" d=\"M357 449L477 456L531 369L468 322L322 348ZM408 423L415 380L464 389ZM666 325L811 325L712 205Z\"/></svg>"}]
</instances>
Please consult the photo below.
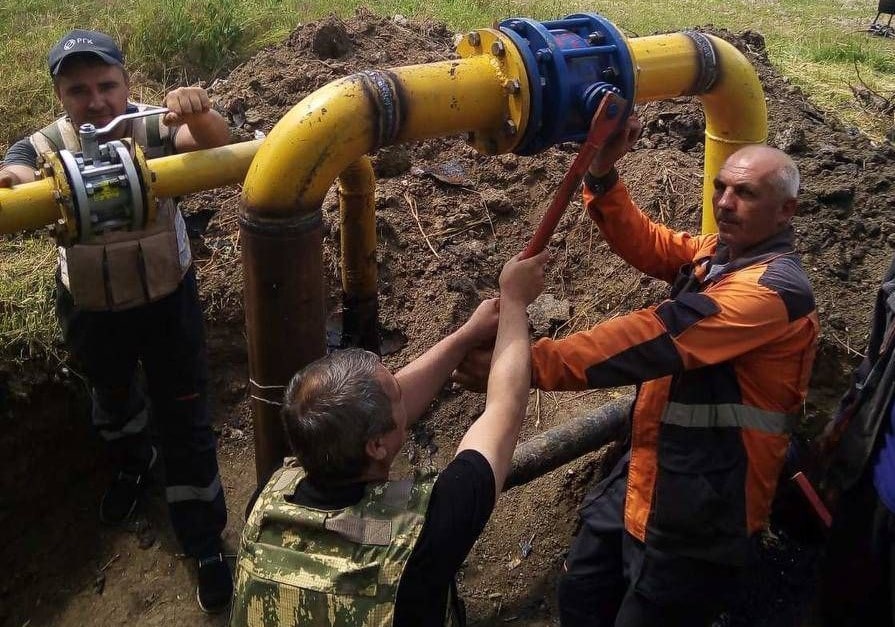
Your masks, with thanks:
<instances>
[{"instance_id":1,"label":"thick yellow pipe bend left of the blue valve, without its flange","mask_svg":"<svg viewBox=\"0 0 895 627\"><path fill-rule=\"evenodd\" d=\"M487 55L379 72L397 88L386 143L456 135L503 123L501 79ZM258 150L246 176L248 211L262 216L316 211L350 163L378 147L382 124L377 95L362 74L329 83L281 119Z\"/></svg>"}]
</instances>

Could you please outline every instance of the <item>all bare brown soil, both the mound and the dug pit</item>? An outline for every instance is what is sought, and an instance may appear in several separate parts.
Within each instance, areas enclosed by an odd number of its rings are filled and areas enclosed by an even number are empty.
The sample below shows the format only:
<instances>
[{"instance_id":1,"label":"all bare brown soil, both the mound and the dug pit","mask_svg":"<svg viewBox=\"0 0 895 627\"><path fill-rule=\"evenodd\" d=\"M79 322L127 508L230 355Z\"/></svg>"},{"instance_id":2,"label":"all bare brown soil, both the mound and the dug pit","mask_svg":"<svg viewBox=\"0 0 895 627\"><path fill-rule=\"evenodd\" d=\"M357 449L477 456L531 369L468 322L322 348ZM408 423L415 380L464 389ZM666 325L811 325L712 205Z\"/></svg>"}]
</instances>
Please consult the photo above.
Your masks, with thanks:
<instances>
[{"instance_id":1,"label":"all bare brown soil, both the mound and the dug pit","mask_svg":"<svg viewBox=\"0 0 895 627\"><path fill-rule=\"evenodd\" d=\"M805 406L804 431L810 435L866 342L873 294L895 248L895 149L873 145L839 124L834 113L815 107L770 65L760 35L717 34L758 68L768 100L769 142L789 152L802 171L796 231L823 324ZM235 133L247 138L268 132L294 103L346 74L451 58L452 37L441 24L403 18L359 13L344 22L328 19L261 51L211 92ZM645 132L621 164L623 178L651 216L698 231L704 131L699 103L650 103L640 114ZM562 145L533 157L488 158L461 139L380 151L374 161L381 321L400 347L386 357L390 367L419 355L456 328L481 298L496 294L501 263L523 247L576 151ZM204 230L193 243L209 324L211 401L231 548L254 488L238 194L236 188L206 192L186 203L197 231ZM332 192L323 209L329 304L336 307L338 207ZM569 309L539 323L536 334L583 329L655 303L665 293L664 285L608 251L579 201L563 219L553 250L546 293ZM533 394L523 437L627 392ZM483 404L480 395L446 388L415 430L402 465L432 460L443 467ZM107 467L86 416L82 382L56 372L31 389L28 401L7 407L0 417L0 625L225 624L223 617L198 611L192 565L176 554L157 492L128 529L98 524ZM604 471L604 454L582 458L501 500L460 574L472 624L557 624L558 568L575 532L576 506ZM527 557L520 543L532 545ZM798 547L775 552L773 537L768 546L758 577L763 600L724 624L803 620L799 601L811 592L810 559L802 559Z\"/></svg>"}]
</instances>

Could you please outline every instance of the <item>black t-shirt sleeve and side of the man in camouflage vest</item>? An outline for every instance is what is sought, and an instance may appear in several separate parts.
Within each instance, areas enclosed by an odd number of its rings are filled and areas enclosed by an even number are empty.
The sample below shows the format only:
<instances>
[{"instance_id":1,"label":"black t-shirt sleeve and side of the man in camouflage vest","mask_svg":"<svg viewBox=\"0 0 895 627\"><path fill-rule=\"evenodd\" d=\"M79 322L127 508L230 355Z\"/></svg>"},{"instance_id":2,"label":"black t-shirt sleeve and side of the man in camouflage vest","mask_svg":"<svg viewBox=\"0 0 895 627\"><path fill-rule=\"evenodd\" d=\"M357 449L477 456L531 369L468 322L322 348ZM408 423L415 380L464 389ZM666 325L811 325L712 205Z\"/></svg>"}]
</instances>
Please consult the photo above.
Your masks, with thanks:
<instances>
[{"instance_id":1,"label":"black t-shirt sleeve and side of the man in camouflage vest","mask_svg":"<svg viewBox=\"0 0 895 627\"><path fill-rule=\"evenodd\" d=\"M448 587L494 509L494 471L466 450L432 488L426 522L395 601L395 627L443 625Z\"/></svg>"}]
</instances>

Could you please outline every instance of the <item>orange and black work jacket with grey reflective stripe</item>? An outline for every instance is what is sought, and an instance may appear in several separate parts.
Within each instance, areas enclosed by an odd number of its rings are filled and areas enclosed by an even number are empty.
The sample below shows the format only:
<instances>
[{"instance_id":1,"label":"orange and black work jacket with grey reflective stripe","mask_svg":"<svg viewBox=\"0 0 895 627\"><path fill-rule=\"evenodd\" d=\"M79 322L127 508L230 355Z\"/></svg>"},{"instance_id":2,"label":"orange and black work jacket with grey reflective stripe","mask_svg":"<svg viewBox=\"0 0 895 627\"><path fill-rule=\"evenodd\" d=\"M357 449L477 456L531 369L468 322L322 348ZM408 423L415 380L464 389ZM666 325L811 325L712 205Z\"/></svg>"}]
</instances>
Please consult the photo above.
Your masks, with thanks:
<instances>
[{"instance_id":1,"label":"orange and black work jacket with grey reflective stripe","mask_svg":"<svg viewBox=\"0 0 895 627\"><path fill-rule=\"evenodd\" d=\"M717 235L651 222L622 183L599 200L585 189L585 204L612 250L672 283L672 296L540 340L533 381L547 390L638 385L626 529L665 551L742 563L767 522L814 362L814 296L792 231L722 266Z\"/></svg>"}]
</instances>

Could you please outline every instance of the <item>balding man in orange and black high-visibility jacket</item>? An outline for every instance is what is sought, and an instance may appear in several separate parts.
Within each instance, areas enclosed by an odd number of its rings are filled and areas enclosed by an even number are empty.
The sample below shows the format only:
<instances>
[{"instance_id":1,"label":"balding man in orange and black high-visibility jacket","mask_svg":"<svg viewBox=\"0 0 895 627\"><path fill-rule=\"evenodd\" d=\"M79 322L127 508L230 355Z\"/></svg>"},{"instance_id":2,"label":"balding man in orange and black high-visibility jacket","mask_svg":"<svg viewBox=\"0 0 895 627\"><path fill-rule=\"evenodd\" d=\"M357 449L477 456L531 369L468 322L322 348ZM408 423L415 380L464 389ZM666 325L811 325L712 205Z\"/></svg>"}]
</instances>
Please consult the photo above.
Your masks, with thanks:
<instances>
[{"instance_id":1,"label":"balding man in orange and black high-visibility jacket","mask_svg":"<svg viewBox=\"0 0 895 627\"><path fill-rule=\"evenodd\" d=\"M767 523L814 361L792 160L734 153L714 181L719 233L691 236L650 221L619 181L639 133L629 121L594 160L584 200L613 251L672 285L669 299L532 347L534 387L638 386L630 452L581 508L564 627L711 623Z\"/></svg>"}]
</instances>

